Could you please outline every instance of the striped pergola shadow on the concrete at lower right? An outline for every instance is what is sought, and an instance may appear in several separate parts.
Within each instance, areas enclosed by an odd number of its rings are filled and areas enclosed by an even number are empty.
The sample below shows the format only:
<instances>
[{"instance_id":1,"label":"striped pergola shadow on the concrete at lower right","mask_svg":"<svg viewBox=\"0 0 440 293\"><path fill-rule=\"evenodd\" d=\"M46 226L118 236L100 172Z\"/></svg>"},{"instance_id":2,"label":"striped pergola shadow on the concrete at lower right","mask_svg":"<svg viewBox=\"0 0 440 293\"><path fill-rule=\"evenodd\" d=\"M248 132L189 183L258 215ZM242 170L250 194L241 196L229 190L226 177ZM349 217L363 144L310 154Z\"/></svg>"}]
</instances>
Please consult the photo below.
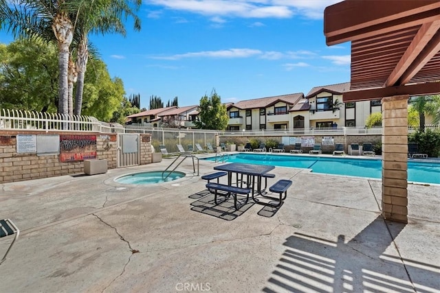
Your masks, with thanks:
<instances>
[{"instance_id":1,"label":"striped pergola shadow on the concrete at lower right","mask_svg":"<svg viewBox=\"0 0 440 293\"><path fill-rule=\"evenodd\" d=\"M437 292L440 267L401 258L404 226L378 217L347 243L294 233L263 292Z\"/></svg>"}]
</instances>

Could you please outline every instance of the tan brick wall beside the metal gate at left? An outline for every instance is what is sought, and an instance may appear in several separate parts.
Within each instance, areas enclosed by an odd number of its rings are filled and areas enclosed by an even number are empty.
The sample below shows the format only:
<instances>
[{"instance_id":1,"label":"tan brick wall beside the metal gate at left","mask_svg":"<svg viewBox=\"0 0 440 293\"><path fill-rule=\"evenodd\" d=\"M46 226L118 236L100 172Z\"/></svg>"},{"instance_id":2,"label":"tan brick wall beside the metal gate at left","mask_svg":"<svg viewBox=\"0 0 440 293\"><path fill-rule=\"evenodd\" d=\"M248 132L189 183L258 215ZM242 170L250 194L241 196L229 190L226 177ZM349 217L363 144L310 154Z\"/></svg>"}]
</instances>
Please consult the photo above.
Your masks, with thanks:
<instances>
[{"instance_id":1,"label":"tan brick wall beside the metal gate at left","mask_svg":"<svg viewBox=\"0 0 440 293\"><path fill-rule=\"evenodd\" d=\"M0 183L36 178L47 178L84 172L83 161L61 162L58 154L41 155L17 153L17 134L42 134L33 131L0 131ZM44 133L45 134L45 133ZM85 134L51 132L50 134ZM96 135L96 159L106 159L109 169L118 165L117 134L87 133ZM151 134L141 135L141 165L151 163Z\"/></svg>"}]
</instances>

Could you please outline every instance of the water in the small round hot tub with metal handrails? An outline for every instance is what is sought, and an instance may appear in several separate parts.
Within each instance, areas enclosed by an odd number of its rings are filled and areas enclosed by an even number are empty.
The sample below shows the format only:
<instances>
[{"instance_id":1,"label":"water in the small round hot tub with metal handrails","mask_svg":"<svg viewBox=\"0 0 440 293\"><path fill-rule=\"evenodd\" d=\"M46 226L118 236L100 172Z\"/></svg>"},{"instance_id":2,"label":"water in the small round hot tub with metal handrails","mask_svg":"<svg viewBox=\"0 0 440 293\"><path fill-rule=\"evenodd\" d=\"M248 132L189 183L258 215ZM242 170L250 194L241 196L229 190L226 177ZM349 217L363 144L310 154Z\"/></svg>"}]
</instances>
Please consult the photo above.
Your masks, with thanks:
<instances>
[{"instance_id":1,"label":"water in the small round hot tub with metal handrails","mask_svg":"<svg viewBox=\"0 0 440 293\"><path fill-rule=\"evenodd\" d=\"M182 172L174 171L171 172L171 174L170 172L164 172L164 174L162 174L162 172L163 171L133 173L115 178L115 181L123 184L155 184L177 180L185 176L185 173ZM167 176L168 174L170 175Z\"/></svg>"}]
</instances>

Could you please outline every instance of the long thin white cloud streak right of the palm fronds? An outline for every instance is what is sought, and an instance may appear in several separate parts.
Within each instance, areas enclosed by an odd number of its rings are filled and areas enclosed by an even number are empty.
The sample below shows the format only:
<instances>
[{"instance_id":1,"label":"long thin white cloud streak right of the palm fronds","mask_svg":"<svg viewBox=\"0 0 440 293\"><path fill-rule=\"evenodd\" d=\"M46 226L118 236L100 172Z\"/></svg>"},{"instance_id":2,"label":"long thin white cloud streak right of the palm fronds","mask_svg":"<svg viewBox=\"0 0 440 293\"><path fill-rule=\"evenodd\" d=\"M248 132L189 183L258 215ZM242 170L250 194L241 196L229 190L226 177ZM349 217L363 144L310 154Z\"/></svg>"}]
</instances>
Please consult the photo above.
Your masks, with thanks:
<instances>
[{"instance_id":1,"label":"long thin white cloud streak right of the palm fronds","mask_svg":"<svg viewBox=\"0 0 440 293\"><path fill-rule=\"evenodd\" d=\"M176 54L172 56L155 56L153 59L179 60L182 58L248 58L250 56L261 55L260 50L255 49L227 49L219 51L200 51L189 52L185 54Z\"/></svg>"}]
</instances>

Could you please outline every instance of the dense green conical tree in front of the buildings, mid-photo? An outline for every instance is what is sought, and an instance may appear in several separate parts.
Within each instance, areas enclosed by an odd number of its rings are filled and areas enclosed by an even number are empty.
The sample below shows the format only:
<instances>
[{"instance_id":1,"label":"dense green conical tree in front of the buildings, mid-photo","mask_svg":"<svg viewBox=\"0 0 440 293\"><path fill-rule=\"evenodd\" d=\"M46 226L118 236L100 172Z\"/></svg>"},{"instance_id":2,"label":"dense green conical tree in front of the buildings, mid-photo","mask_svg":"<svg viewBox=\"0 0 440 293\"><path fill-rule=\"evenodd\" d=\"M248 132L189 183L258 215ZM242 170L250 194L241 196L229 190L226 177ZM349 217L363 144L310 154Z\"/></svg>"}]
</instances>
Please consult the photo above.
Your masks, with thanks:
<instances>
[{"instance_id":1,"label":"dense green conical tree in front of the buildings, mid-photo","mask_svg":"<svg viewBox=\"0 0 440 293\"><path fill-rule=\"evenodd\" d=\"M199 121L194 121L197 128L225 130L228 126L228 113L226 106L221 104L221 98L215 90L212 90L210 97L204 95L200 99Z\"/></svg>"}]
</instances>

